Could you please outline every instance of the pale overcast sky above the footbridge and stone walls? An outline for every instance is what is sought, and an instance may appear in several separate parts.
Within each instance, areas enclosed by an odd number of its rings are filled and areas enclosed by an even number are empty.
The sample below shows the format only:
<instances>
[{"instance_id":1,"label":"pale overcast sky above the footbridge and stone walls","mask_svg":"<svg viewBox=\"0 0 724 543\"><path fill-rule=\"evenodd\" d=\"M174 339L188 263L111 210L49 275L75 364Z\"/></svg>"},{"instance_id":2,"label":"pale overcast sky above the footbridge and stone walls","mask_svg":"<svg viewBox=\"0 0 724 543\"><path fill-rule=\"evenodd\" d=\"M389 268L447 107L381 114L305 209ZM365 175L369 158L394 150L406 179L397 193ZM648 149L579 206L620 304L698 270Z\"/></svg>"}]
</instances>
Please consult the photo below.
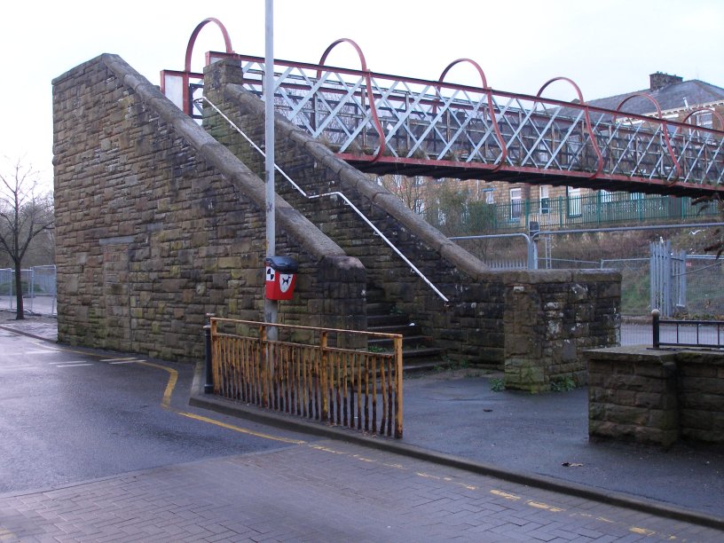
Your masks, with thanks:
<instances>
[{"instance_id":1,"label":"pale overcast sky above the footbridge and stone walls","mask_svg":"<svg viewBox=\"0 0 724 543\"><path fill-rule=\"evenodd\" d=\"M208 17L224 23L234 51L264 56L264 0L6 3L0 156L50 181L52 79L110 52L159 84L161 69L183 69L189 37ZM565 75L593 99L646 89L657 71L724 87L722 23L722 0L275 0L274 56L318 62L327 45L348 37L376 72L436 80L468 57L493 89L535 94ZM204 28L193 69L223 45L216 27ZM358 67L343 45L328 63ZM476 76L460 65L446 81L474 84ZM575 98L558 84L546 96Z\"/></svg>"}]
</instances>

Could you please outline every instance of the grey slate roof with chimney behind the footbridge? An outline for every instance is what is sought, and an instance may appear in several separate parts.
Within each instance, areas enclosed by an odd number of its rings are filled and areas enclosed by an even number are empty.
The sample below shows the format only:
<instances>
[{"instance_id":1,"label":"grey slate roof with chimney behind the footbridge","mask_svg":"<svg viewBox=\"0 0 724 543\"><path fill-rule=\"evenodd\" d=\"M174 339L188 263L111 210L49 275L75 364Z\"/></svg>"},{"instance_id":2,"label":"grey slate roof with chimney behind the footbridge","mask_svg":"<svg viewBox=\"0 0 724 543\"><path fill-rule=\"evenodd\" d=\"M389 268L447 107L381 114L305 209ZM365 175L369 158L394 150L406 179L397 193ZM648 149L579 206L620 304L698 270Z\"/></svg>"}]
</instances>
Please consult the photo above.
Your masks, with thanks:
<instances>
[{"instance_id":1,"label":"grey slate roof with chimney behind the footbridge","mask_svg":"<svg viewBox=\"0 0 724 543\"><path fill-rule=\"evenodd\" d=\"M681 77L657 72L657 74L650 75L650 81L649 89L589 100L587 103L589 106L616 109L624 99L635 94L649 94L658 102L662 111L692 108L712 104L712 102L724 102L724 89L698 79L682 81ZM626 113L633 114L656 113L656 106L651 100L639 97L631 98L621 109Z\"/></svg>"}]
</instances>

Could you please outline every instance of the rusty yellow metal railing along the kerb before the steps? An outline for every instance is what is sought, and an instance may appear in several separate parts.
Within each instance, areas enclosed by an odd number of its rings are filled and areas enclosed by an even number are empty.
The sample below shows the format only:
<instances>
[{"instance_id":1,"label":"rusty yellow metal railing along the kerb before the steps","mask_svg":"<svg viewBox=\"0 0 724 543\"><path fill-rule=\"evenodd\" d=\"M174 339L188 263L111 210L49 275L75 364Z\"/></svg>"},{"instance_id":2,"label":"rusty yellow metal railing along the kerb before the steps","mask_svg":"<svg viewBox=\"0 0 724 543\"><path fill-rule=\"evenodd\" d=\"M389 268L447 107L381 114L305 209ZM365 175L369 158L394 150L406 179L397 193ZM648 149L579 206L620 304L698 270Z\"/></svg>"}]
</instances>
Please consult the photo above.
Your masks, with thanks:
<instances>
[{"instance_id":1,"label":"rusty yellow metal railing along the kerb before the steps","mask_svg":"<svg viewBox=\"0 0 724 543\"><path fill-rule=\"evenodd\" d=\"M208 337L216 395L402 437L402 335L211 318ZM350 347L371 337L393 350Z\"/></svg>"}]
</instances>

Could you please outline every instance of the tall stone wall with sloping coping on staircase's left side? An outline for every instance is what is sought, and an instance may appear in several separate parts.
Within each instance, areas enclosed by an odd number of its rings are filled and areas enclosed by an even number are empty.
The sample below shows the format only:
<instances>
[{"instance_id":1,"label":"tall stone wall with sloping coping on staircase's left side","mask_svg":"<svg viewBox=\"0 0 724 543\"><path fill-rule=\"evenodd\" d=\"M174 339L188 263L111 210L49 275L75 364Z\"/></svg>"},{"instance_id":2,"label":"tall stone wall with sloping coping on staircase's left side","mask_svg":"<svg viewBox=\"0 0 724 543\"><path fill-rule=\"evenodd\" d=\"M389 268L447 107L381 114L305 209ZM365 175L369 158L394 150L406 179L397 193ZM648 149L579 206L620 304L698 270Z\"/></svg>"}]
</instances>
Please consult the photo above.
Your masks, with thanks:
<instances>
[{"instance_id":1,"label":"tall stone wall with sloping coping on staircase's left side","mask_svg":"<svg viewBox=\"0 0 724 543\"><path fill-rule=\"evenodd\" d=\"M203 357L206 313L262 320L264 182L115 55L53 82L59 341ZM279 320L365 326L357 258L277 198L300 263Z\"/></svg>"}]
</instances>

